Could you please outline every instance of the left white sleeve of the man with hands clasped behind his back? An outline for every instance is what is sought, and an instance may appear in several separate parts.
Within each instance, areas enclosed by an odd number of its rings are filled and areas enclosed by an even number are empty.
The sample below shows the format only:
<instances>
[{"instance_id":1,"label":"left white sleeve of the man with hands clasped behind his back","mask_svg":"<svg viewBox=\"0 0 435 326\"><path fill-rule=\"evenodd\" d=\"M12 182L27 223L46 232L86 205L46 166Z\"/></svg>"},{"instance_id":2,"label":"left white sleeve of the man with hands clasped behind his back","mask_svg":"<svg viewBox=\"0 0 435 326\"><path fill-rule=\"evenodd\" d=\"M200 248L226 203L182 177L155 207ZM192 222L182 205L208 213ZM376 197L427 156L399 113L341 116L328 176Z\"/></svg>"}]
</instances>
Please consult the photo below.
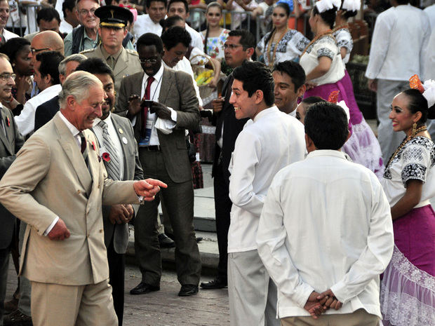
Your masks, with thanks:
<instances>
[{"instance_id":1,"label":"left white sleeve of the man with hands clasped behind his back","mask_svg":"<svg viewBox=\"0 0 435 326\"><path fill-rule=\"evenodd\" d=\"M258 254L279 292L303 308L314 288L300 278L286 247L287 232L283 225L284 213L279 200L279 181L278 174L267 192L258 224Z\"/></svg>"}]
</instances>

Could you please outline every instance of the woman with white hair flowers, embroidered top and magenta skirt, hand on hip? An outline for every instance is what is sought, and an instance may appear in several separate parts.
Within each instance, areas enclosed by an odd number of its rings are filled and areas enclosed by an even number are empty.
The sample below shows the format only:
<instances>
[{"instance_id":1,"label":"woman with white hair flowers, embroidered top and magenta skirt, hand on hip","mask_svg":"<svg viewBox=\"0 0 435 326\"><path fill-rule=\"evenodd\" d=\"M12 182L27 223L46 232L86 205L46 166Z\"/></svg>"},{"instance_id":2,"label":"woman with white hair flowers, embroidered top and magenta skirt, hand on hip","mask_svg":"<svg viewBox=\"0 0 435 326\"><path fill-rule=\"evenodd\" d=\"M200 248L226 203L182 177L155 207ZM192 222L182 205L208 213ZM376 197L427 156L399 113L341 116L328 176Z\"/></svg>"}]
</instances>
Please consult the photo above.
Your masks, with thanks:
<instances>
[{"instance_id":1,"label":"woman with white hair flowers, embroidered top and magenta skirt, hand on hip","mask_svg":"<svg viewBox=\"0 0 435 326\"><path fill-rule=\"evenodd\" d=\"M307 74L307 92L304 98L319 96L327 100L331 93L337 90L340 92L337 102L344 100L349 107L349 130L352 133L344 144L343 151L352 161L366 166L378 177L382 177L384 167L379 142L364 121L353 93L349 95L344 86L345 67L332 31L336 12L337 6L333 1L322 0L316 2L310 15L309 25L315 37L300 57L300 64Z\"/></svg>"}]
</instances>

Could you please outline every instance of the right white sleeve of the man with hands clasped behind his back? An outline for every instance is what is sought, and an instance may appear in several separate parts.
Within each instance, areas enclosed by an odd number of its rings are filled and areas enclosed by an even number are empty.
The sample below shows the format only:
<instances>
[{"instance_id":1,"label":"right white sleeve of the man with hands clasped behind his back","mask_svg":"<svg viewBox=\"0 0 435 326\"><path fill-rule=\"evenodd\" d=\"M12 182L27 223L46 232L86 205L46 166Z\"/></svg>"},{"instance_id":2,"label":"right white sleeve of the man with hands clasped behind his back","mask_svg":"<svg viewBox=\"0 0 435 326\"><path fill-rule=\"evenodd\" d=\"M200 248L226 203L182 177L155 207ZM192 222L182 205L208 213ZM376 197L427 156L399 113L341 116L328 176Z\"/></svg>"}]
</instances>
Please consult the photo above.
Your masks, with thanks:
<instances>
[{"instance_id":1,"label":"right white sleeve of the man with hands clasped behind his back","mask_svg":"<svg viewBox=\"0 0 435 326\"><path fill-rule=\"evenodd\" d=\"M393 222L387 196L373 176L372 211L367 245L349 271L330 289L345 304L360 294L366 285L378 277L389 264L393 254Z\"/></svg>"}]
</instances>

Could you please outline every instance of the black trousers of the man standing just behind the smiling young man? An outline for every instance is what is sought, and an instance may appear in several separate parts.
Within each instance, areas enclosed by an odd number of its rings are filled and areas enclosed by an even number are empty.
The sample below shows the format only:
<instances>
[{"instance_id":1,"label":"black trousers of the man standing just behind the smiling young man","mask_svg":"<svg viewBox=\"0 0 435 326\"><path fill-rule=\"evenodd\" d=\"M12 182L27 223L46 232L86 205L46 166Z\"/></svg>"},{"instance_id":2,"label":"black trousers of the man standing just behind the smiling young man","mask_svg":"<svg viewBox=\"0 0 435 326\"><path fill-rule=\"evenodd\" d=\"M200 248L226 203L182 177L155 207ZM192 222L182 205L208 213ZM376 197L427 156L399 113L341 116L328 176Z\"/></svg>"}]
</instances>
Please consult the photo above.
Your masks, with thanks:
<instances>
[{"instance_id":1,"label":"black trousers of the man standing just behind the smiling young man","mask_svg":"<svg viewBox=\"0 0 435 326\"><path fill-rule=\"evenodd\" d=\"M229 179L227 179L222 173L222 165L216 165L216 168L213 172L213 186L215 189L216 235L217 247L219 248L217 276L226 280L229 212L231 212L232 202L231 199L229 199Z\"/></svg>"}]
</instances>

